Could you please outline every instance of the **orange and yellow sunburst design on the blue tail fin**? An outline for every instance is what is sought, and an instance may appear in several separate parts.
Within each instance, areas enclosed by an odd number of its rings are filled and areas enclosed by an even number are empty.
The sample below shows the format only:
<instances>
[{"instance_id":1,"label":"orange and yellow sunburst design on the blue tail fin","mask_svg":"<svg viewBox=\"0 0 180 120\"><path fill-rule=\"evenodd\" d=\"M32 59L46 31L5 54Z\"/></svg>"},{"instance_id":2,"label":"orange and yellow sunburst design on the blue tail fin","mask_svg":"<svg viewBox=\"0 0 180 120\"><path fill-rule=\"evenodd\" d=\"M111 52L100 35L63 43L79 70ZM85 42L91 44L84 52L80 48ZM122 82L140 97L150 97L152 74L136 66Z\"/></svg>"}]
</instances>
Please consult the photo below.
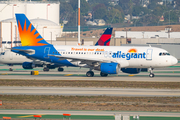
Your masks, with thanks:
<instances>
[{"instance_id":1,"label":"orange and yellow sunburst design on the blue tail fin","mask_svg":"<svg viewBox=\"0 0 180 120\"><path fill-rule=\"evenodd\" d=\"M36 31L32 24L30 23L29 26L26 25L26 19L24 22L24 28L22 28L20 21L18 20L18 28L19 34L21 38L22 46L43 46L47 44L39 43L43 38L41 35Z\"/></svg>"}]
</instances>

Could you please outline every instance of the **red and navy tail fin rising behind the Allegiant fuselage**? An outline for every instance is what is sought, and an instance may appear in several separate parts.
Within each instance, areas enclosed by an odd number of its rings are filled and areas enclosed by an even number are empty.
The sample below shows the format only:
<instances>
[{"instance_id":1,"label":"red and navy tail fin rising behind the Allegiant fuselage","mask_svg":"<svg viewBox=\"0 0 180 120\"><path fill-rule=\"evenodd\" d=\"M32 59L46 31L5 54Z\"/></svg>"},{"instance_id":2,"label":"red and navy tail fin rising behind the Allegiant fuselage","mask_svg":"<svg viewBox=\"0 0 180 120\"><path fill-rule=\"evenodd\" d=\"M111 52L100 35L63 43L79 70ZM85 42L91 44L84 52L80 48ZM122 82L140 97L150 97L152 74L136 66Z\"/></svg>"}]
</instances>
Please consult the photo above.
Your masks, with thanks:
<instances>
[{"instance_id":1,"label":"red and navy tail fin rising behind the Allegiant fuselage","mask_svg":"<svg viewBox=\"0 0 180 120\"><path fill-rule=\"evenodd\" d=\"M112 27L107 28L105 32L101 35L100 39L97 41L95 46L109 46L112 34Z\"/></svg>"}]
</instances>

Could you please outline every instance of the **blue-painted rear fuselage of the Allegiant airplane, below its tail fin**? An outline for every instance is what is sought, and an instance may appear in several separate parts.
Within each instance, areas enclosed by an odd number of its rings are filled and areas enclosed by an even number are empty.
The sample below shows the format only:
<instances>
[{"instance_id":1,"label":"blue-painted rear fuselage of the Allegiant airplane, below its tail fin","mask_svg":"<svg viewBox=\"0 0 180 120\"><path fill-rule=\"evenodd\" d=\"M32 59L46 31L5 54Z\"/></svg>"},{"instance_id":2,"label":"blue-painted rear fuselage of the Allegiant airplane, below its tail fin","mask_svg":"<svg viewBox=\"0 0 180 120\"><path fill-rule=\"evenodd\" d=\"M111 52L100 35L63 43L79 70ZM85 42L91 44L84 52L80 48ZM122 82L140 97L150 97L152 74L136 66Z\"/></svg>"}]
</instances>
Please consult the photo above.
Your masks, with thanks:
<instances>
[{"instance_id":1,"label":"blue-painted rear fuselage of the Allegiant airplane, below its tail fin","mask_svg":"<svg viewBox=\"0 0 180 120\"><path fill-rule=\"evenodd\" d=\"M12 50L13 52L22 54L24 56L27 57L32 57L32 58L36 58L42 61L46 61L46 62L53 62L62 66L75 66L73 65L71 62L69 62L68 60L59 60L59 58L54 57L54 56L48 56L45 54L45 48L49 47L49 53L46 54L52 54L52 55L60 55L58 53L58 51L54 48L53 45L44 45L44 46L19 46L19 47L13 47L14 49L21 49L21 50L35 50L35 54L28 54L22 51L17 51L17 50ZM48 57L45 57L48 56Z\"/></svg>"}]
</instances>

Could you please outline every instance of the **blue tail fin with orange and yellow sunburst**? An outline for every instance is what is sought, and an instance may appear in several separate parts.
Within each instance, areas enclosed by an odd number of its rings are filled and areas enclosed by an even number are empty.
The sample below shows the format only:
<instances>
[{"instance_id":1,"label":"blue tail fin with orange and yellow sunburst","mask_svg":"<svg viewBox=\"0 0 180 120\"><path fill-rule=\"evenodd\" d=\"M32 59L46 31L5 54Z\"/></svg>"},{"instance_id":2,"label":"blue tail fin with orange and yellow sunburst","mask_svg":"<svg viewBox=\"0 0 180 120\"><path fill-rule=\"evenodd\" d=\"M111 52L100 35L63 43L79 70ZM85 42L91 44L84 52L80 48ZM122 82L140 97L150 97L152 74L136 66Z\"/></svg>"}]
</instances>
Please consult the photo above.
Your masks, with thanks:
<instances>
[{"instance_id":1,"label":"blue tail fin with orange and yellow sunburst","mask_svg":"<svg viewBox=\"0 0 180 120\"><path fill-rule=\"evenodd\" d=\"M25 14L16 14L16 21L22 46L44 46L48 42L39 34Z\"/></svg>"}]
</instances>

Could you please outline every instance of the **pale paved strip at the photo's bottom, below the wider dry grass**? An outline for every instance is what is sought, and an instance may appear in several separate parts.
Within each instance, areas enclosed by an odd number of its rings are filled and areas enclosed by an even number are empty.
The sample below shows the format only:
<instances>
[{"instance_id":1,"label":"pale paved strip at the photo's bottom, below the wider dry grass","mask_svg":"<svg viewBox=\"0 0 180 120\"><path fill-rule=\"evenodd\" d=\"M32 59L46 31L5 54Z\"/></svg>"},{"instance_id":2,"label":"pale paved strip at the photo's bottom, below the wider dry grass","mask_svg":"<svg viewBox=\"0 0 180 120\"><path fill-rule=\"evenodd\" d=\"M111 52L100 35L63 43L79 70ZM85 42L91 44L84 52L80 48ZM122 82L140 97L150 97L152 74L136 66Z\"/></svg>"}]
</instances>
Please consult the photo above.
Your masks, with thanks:
<instances>
[{"instance_id":1,"label":"pale paved strip at the photo's bottom, below the wider dry grass","mask_svg":"<svg viewBox=\"0 0 180 120\"><path fill-rule=\"evenodd\" d=\"M103 115L114 116L115 114L125 115L139 115L139 116L163 116L163 117L180 117L177 112L125 112L125 111L75 111L75 110L0 110L0 114L48 114L48 115L62 115L68 113L71 115Z\"/></svg>"}]
</instances>

